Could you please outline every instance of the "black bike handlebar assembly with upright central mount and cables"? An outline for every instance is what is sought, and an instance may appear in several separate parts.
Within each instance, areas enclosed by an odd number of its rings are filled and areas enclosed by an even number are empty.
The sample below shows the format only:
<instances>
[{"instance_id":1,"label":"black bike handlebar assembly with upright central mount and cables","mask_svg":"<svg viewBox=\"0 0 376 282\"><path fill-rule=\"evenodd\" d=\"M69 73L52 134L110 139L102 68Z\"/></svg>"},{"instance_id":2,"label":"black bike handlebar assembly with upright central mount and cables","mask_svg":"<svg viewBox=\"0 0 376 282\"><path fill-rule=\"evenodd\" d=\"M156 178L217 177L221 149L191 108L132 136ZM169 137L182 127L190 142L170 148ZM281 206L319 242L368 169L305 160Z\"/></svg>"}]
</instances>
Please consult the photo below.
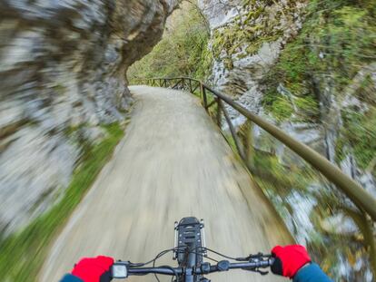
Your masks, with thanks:
<instances>
[{"instance_id":1,"label":"black bike handlebar assembly with upright central mount and cables","mask_svg":"<svg viewBox=\"0 0 376 282\"><path fill-rule=\"evenodd\" d=\"M119 260L111 267L112 277L126 278L137 275L161 274L175 277L176 282L209 281L203 276L213 272L229 271L230 269L243 269L265 275L268 272L260 269L271 267L274 261L271 255L263 255L262 253L245 258L231 258L206 248L203 219L183 218L179 222L175 222L174 231L174 248L162 251L146 263L134 264L130 261ZM178 267L154 267L155 261L168 252L173 252L173 259L177 260ZM225 260L218 261L210 258L208 252L225 258ZM211 265L209 262L204 262L203 258L212 259L216 264ZM145 267L151 263L153 263L153 267Z\"/></svg>"}]
</instances>

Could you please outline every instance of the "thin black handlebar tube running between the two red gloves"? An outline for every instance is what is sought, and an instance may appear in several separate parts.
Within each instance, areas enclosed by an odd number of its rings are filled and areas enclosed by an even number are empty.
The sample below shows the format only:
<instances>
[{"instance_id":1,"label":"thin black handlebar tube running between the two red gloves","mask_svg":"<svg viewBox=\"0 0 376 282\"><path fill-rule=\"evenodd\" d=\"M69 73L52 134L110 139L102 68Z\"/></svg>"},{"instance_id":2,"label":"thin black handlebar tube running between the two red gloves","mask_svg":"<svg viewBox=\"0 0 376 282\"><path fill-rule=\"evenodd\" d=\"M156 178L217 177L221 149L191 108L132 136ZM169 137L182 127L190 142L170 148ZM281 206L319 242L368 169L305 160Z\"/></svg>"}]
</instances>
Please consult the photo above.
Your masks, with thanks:
<instances>
[{"instance_id":1,"label":"thin black handlebar tube running between the two red gloves","mask_svg":"<svg viewBox=\"0 0 376 282\"><path fill-rule=\"evenodd\" d=\"M230 269L255 270L272 266L274 258L266 260L253 260L250 262L230 263L228 260L219 261L217 265L211 266L203 263L202 267L182 268L182 267L129 267L129 275L162 274L162 275L182 275L190 271L192 275L205 275L213 272L228 271Z\"/></svg>"}]
</instances>

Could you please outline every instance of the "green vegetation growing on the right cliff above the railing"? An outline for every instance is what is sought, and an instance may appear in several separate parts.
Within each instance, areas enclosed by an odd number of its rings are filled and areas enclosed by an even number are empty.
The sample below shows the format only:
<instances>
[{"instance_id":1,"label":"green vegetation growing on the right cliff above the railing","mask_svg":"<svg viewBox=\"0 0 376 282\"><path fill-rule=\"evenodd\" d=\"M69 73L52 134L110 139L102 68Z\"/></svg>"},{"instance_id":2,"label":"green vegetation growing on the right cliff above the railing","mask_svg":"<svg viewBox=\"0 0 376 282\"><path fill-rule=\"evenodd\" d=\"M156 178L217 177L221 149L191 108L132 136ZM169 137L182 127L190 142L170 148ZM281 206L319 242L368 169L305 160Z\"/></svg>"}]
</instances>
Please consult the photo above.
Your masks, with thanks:
<instances>
[{"instance_id":1,"label":"green vegetation growing on the right cliff above the railing","mask_svg":"<svg viewBox=\"0 0 376 282\"><path fill-rule=\"evenodd\" d=\"M348 99L349 87L355 89L351 95L366 104L366 110L343 109L344 126L336 151L338 161L353 153L361 169L369 168L376 154L376 89L371 80L376 60L375 11L374 1L310 1L301 32L286 44L262 82L267 89L263 105L280 121L291 120L294 113L294 120L320 122L319 99L328 95L328 88L340 102ZM366 74L359 78L359 73ZM281 84L293 94L292 100L277 91ZM374 166L371 170L375 174Z\"/></svg>"}]
</instances>

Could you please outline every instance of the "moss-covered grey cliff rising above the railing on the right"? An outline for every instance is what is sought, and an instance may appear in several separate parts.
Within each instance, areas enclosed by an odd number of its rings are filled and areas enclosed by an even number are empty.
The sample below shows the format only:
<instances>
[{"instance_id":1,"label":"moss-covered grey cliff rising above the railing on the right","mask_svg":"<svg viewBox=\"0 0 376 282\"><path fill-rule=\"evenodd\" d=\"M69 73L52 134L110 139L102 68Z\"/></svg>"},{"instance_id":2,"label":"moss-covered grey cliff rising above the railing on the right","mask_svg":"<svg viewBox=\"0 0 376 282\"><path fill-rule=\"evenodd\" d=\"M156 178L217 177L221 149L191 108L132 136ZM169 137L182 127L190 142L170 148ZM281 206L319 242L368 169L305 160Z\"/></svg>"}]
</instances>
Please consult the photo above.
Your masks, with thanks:
<instances>
[{"instance_id":1,"label":"moss-covered grey cliff rising above the railing on the right","mask_svg":"<svg viewBox=\"0 0 376 282\"><path fill-rule=\"evenodd\" d=\"M372 3L199 1L212 29L213 84L376 195L375 147L369 142L376 134L375 52L372 35L365 35L375 32ZM244 122L238 113L232 116ZM351 139L344 127L357 122L359 136Z\"/></svg>"}]
</instances>

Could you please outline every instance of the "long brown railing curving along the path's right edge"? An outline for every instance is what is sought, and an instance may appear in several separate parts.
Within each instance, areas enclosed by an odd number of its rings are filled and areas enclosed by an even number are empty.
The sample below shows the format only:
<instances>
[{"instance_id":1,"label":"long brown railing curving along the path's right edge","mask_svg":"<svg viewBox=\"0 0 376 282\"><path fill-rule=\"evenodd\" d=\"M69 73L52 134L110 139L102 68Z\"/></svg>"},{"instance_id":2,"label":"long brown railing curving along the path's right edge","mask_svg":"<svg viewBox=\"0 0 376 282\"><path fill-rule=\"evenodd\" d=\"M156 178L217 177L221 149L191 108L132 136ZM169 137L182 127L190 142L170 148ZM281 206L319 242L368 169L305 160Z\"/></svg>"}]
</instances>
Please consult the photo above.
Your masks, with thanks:
<instances>
[{"instance_id":1,"label":"long brown railing curving along the path's right edge","mask_svg":"<svg viewBox=\"0 0 376 282\"><path fill-rule=\"evenodd\" d=\"M270 122L266 122L261 117L248 111L238 102L234 102L233 99L222 92L213 90L213 88L207 86L199 80L190 77L174 77L174 78L151 78L151 79L135 79L134 81L146 82L150 86L170 87L173 89L183 89L189 92L199 91L203 101L203 107L206 111L209 111L214 104L217 105L215 120L221 128L221 122L223 120L222 113L225 121L228 123L229 130L233 136L235 147L242 158L245 160L244 153L242 152L238 136L236 134L233 123L230 116L223 107L223 102L230 105L233 109L240 112L249 121L254 122L260 126L264 131L268 131L273 137L282 141L284 145L289 147L292 151L297 153L302 159L306 160L316 170L319 170L323 176L330 180L337 188L344 192L349 199L362 211L366 212L373 221L376 221L376 199L374 199L370 193L364 190L360 184L352 180L348 175L343 173L337 166L331 163L331 161L324 158L320 153L312 150L307 145L300 141L295 140L278 127ZM213 101L209 101L208 93L213 94Z\"/></svg>"}]
</instances>

